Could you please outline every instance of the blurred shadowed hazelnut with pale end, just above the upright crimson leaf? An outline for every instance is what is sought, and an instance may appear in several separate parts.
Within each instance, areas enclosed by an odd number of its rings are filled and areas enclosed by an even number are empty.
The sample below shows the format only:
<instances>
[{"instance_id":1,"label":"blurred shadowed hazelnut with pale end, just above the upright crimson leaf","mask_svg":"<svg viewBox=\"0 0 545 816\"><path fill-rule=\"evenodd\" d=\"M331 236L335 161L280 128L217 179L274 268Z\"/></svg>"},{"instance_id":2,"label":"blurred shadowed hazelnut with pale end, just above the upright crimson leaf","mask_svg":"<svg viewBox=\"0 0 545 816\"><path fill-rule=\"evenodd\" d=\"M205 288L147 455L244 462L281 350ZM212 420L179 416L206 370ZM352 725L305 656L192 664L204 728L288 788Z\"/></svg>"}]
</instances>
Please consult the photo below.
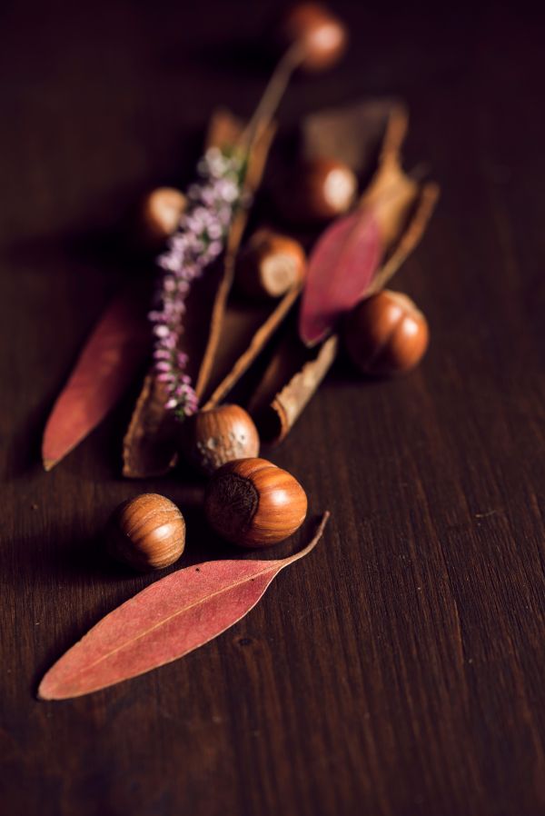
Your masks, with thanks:
<instances>
[{"instance_id":1,"label":"blurred shadowed hazelnut with pale end, just above the upright crimson leaf","mask_svg":"<svg viewBox=\"0 0 545 816\"><path fill-rule=\"evenodd\" d=\"M318 158L300 164L293 179L278 190L281 214L295 224L329 221L352 207L358 180L348 164Z\"/></svg>"}]
</instances>

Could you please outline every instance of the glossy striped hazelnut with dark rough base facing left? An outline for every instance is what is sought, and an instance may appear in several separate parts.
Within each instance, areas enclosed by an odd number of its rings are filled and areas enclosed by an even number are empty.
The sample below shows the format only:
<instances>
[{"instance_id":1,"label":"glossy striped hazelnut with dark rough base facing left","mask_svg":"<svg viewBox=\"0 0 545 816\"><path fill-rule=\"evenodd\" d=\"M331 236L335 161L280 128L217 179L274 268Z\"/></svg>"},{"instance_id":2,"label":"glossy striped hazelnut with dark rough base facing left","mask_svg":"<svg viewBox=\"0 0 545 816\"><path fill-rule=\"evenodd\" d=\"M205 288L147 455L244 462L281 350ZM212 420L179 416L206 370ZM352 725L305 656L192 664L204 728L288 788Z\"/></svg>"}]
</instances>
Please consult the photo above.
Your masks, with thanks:
<instances>
[{"instance_id":1,"label":"glossy striped hazelnut with dark rough base facing left","mask_svg":"<svg viewBox=\"0 0 545 816\"><path fill-rule=\"evenodd\" d=\"M239 459L213 474L204 498L213 530L242 547L268 547L301 527L307 497L291 473L266 459Z\"/></svg>"}]
</instances>

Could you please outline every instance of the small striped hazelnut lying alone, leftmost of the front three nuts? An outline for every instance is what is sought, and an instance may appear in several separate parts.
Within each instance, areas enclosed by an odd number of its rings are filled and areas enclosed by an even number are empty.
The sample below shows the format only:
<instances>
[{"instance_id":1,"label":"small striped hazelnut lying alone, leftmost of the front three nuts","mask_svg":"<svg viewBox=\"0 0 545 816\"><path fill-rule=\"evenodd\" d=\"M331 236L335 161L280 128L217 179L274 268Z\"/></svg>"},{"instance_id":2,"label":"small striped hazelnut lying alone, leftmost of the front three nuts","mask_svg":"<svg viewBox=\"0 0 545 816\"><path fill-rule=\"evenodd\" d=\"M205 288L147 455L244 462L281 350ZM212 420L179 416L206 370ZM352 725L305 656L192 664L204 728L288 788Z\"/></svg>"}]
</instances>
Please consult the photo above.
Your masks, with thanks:
<instances>
[{"instance_id":1,"label":"small striped hazelnut lying alone, leftmost of the front three nuts","mask_svg":"<svg viewBox=\"0 0 545 816\"><path fill-rule=\"evenodd\" d=\"M108 532L111 555L140 572L170 566L185 547L183 515L158 493L142 493L120 504Z\"/></svg>"}]
</instances>

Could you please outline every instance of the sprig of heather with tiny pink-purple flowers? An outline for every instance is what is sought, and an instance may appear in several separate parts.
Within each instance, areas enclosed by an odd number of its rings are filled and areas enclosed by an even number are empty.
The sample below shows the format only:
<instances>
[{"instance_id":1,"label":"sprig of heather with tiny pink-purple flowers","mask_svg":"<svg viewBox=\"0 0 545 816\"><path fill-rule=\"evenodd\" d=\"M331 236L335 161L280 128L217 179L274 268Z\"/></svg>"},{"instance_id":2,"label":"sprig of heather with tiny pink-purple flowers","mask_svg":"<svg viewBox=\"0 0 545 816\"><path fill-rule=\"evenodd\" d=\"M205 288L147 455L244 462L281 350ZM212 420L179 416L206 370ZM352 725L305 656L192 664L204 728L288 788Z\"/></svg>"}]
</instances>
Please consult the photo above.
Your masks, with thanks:
<instances>
[{"instance_id":1,"label":"sprig of heather with tiny pink-purple flowers","mask_svg":"<svg viewBox=\"0 0 545 816\"><path fill-rule=\"evenodd\" d=\"M188 357L180 351L185 299L191 284L223 251L236 207L243 199L245 162L236 153L211 147L197 170L200 180L187 191L188 205L179 228L157 259L161 275L149 317L154 332L154 369L164 383L165 408L183 420L198 407Z\"/></svg>"}]
</instances>

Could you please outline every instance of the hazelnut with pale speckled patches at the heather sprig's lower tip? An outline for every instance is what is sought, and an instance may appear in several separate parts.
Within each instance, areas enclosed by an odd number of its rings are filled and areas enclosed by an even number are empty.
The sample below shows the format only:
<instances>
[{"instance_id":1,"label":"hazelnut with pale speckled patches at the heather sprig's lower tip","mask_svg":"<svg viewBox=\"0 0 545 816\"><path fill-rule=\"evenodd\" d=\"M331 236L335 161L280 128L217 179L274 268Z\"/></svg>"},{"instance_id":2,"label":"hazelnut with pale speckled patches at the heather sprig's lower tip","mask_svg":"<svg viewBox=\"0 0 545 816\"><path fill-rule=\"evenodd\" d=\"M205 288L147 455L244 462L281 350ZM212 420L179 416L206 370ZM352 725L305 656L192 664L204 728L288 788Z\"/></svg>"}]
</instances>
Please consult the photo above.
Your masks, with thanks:
<instances>
[{"instance_id":1,"label":"hazelnut with pale speckled patches at the heather sprig's lower tip","mask_svg":"<svg viewBox=\"0 0 545 816\"><path fill-rule=\"evenodd\" d=\"M210 475L226 462L259 455L259 433L240 405L219 405L186 420L183 452L201 473Z\"/></svg>"}]
</instances>

